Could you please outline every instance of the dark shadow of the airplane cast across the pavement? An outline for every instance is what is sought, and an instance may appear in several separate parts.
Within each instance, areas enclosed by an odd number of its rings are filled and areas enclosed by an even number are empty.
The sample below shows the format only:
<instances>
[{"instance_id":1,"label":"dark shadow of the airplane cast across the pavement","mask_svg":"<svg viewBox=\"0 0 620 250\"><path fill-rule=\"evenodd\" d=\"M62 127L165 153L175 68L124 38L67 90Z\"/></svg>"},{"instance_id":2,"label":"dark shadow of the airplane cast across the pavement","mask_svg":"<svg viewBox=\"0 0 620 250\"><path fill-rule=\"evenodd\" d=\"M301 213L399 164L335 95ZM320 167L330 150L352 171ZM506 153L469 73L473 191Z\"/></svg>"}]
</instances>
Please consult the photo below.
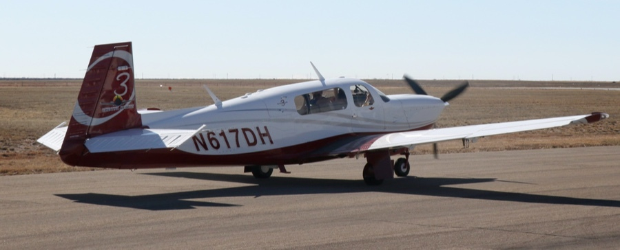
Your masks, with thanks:
<instances>
[{"instance_id":1,"label":"dark shadow of the airplane cast across the pavement","mask_svg":"<svg viewBox=\"0 0 620 250\"><path fill-rule=\"evenodd\" d=\"M411 194L423 196L473 198L490 201L513 201L521 203L544 203L566 205L588 205L601 207L620 207L620 201L589 198L571 198L541 194L523 194L492 190L475 190L450 187L449 185L484 183L496 179L467 178L417 178L405 177L386 181L384 185L367 186L361 180L309 179L296 177L271 177L254 179L251 175L211 174L196 172L161 172L148 174L158 177L177 177L205 181L228 181L251 184L235 188L196 190L165 194L146 194L125 196L116 194L55 194L77 203L129 207L147 210L193 209L196 207L234 207L235 204L191 201L192 199L243 197L243 196L282 196L296 194L346 194L360 192L386 192L392 194Z\"/></svg>"}]
</instances>

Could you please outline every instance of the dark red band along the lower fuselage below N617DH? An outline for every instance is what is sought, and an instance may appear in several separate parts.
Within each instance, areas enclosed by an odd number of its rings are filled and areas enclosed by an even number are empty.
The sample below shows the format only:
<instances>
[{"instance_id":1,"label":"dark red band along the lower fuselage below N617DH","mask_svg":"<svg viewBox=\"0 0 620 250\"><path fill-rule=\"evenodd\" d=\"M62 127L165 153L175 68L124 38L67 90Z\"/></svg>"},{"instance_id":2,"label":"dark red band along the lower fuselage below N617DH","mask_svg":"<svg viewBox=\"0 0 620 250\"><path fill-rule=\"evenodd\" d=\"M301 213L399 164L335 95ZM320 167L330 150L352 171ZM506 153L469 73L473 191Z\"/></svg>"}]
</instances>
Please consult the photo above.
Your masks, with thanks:
<instances>
[{"instance_id":1,"label":"dark red band along the lower fuselage below N617DH","mask_svg":"<svg viewBox=\"0 0 620 250\"><path fill-rule=\"evenodd\" d=\"M429 124L413 130L426 130L433 127ZM200 166L249 166L302 164L344 157L344 153L363 152L385 133L347 134L309 141L285 148L276 148L260 152L238 155L196 155L169 148L152 150L133 150L122 152L87 153L83 155L77 166L94 168L172 168ZM359 146L350 145L356 139L367 137ZM271 138L269 138L271 139ZM344 149L334 152L335 149Z\"/></svg>"}]
</instances>

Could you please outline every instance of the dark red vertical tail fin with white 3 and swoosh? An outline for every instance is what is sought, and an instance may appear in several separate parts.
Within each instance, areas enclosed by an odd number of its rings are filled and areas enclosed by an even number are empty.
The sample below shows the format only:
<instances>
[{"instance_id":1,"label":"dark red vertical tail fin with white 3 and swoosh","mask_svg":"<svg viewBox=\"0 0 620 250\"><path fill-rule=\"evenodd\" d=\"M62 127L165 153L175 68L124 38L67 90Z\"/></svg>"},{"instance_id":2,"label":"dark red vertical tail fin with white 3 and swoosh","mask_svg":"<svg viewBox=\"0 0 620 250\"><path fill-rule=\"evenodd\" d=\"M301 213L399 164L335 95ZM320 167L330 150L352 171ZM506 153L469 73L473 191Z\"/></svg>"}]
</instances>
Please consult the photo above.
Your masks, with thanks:
<instances>
[{"instance_id":1,"label":"dark red vertical tail fin with white 3 and swoosh","mask_svg":"<svg viewBox=\"0 0 620 250\"><path fill-rule=\"evenodd\" d=\"M96 45L59 152L61 159L79 166L86 139L141 126L132 43Z\"/></svg>"}]
</instances>

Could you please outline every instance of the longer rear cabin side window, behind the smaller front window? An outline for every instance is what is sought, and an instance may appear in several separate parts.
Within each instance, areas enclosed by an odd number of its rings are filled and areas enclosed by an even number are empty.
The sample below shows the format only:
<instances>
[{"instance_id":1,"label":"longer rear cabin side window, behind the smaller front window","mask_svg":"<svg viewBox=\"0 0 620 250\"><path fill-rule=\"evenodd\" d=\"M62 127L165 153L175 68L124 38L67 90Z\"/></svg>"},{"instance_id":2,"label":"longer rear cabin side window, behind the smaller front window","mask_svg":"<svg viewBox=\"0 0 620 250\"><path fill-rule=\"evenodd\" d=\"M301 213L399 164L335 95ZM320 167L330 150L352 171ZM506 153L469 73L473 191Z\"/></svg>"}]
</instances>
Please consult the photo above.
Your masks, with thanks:
<instances>
[{"instance_id":1,"label":"longer rear cabin side window, behind the smaller front window","mask_svg":"<svg viewBox=\"0 0 620 250\"><path fill-rule=\"evenodd\" d=\"M347 95L340 88L324 89L295 97L300 115L347 109Z\"/></svg>"}]
</instances>

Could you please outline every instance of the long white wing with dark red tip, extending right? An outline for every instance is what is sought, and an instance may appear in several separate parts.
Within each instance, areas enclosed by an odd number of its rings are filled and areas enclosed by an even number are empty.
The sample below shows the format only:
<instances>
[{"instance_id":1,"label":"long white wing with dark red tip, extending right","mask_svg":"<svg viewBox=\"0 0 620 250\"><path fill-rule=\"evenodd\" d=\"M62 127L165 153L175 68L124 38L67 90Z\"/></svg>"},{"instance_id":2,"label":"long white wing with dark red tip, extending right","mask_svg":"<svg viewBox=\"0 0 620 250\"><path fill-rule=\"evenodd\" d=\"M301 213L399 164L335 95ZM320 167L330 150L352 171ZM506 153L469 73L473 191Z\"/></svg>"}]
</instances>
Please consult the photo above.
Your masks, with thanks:
<instances>
[{"instance_id":1,"label":"long white wing with dark red tip, extending right","mask_svg":"<svg viewBox=\"0 0 620 250\"><path fill-rule=\"evenodd\" d=\"M542 128L554 128L571 124L588 124L598 122L608 117L609 115L606 113L592 113L591 115L575 115L537 120L524 120L518 122L501 122L495 124L480 124L452 128L435 128L431 130L388 133L384 135L371 135L358 137L351 141L344 141L338 146L324 148L318 153L327 155L342 155L371 150L412 147L420 144L431 144L454 139L475 139L490 135L502 135Z\"/></svg>"}]
</instances>

